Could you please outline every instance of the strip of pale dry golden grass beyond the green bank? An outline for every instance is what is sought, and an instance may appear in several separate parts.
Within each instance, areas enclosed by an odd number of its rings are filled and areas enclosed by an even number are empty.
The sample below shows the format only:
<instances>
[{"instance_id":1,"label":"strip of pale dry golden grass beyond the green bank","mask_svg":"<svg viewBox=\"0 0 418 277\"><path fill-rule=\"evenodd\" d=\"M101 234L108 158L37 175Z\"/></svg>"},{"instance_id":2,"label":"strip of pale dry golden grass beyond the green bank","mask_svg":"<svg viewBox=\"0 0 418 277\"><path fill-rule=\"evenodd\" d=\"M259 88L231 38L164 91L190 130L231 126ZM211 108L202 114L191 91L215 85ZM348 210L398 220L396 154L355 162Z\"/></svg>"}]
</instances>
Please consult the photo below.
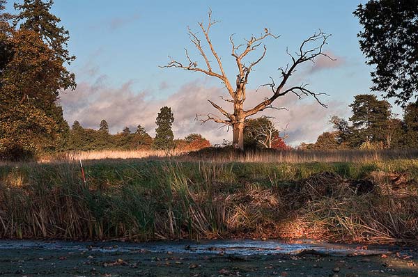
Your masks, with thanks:
<instances>
[{"instance_id":1,"label":"strip of pale dry golden grass beyond the green bank","mask_svg":"<svg viewBox=\"0 0 418 277\"><path fill-rule=\"evenodd\" d=\"M204 148L187 152L186 150L102 150L73 151L59 155L41 157L40 162L103 159L175 159L176 161L214 161L249 163L306 163L320 162L373 162L393 159L418 159L418 150L249 150Z\"/></svg>"}]
</instances>

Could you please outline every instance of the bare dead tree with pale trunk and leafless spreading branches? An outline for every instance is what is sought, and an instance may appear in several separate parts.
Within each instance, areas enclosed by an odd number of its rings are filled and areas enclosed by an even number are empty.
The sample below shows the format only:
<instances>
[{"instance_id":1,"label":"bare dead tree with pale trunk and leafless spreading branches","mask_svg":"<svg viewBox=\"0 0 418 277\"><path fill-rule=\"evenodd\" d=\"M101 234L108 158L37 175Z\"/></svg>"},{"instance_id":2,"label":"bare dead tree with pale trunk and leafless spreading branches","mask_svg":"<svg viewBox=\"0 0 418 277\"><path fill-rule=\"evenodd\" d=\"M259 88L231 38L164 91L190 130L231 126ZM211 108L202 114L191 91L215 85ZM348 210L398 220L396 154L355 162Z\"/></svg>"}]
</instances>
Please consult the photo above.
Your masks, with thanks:
<instances>
[{"instance_id":1,"label":"bare dead tree with pale trunk and leafless spreading branches","mask_svg":"<svg viewBox=\"0 0 418 277\"><path fill-rule=\"evenodd\" d=\"M270 97L265 97L263 102L257 104L252 109L245 110L244 102L247 97L246 85L248 83L249 74L251 70L254 69L254 66L256 66L263 60L263 58L265 57L265 53L267 52L267 47L263 45L263 40L269 37L275 39L279 37L270 33L270 30L266 28L262 35L259 35L258 37L253 35L251 36L251 38L249 38L249 40L245 40L245 44L235 45L235 42L233 41L233 35L231 35L231 37L229 38L232 46L231 55L233 56L233 58L235 58L235 62L238 68L238 74L236 77L235 84L232 84L230 79L226 77L221 58L219 58L219 55L215 51L215 48L213 47L212 41L210 40L209 36L211 27L217 23L217 21L212 20L211 11L209 11L208 13L208 24L205 25L203 24L203 22L199 23L200 29L203 32L204 36L203 40L206 41L206 44L210 49L209 53L206 53L203 49L202 40L198 37L197 33L194 33L191 29L187 28L189 38L203 57L203 61L206 64L206 68L199 67L198 63L196 61L193 61L192 58L190 58L187 49L185 49L187 63L180 63L179 61L176 61L173 58L171 58L171 61L167 65L162 66L162 68L182 68L184 70L202 72L203 74L206 74L210 77L220 79L222 84L225 85L226 90L229 93L229 96L231 97L229 99L225 99L222 97L222 100L233 105L233 112L226 111L226 109L224 109L222 106L219 106L212 100L208 100L208 102L210 102L210 104L212 104L212 106L214 106L215 109L222 113L224 118L219 118L218 116L215 116L212 113L208 113L206 115L196 115L196 118L203 117L201 118L202 123L207 122L208 120L213 120L215 122L219 122L232 127L234 148L238 148L241 150L244 149L244 127L246 118L248 118L249 116L254 116L256 113L268 108L284 109L272 106L274 100L276 100L279 97L284 97L288 93L293 93L299 98L301 98L303 95L311 95L321 106L326 107L326 105L323 104L323 102L320 102L320 100L318 99L319 95L325 95L325 93L315 93L314 91L309 90L307 86L304 84L300 86L291 86L286 88L286 83L288 79L291 77L291 75L295 72L298 65L307 61L314 62L315 58L318 56L330 58L330 56L323 53L323 47L327 44L327 38L329 38L330 35L327 35L326 33L319 31L318 33L314 33L314 35L311 35L309 38L304 40L300 45L298 51L295 52L295 54L291 54L286 50L286 53L291 58L291 63L286 65L286 68L279 68L281 73L281 81L279 82L279 84L275 84L274 79L270 78L272 79L272 82L270 84L263 85L270 86L272 90L272 95L270 95ZM314 44L316 46L309 48L309 45L311 44ZM242 51L240 51L240 49L242 49ZM254 52L258 49L262 49L259 57L255 61L245 63L244 60L246 56L249 53ZM212 68L212 64L210 61L211 56L215 58L215 61L217 63L216 70Z\"/></svg>"}]
</instances>

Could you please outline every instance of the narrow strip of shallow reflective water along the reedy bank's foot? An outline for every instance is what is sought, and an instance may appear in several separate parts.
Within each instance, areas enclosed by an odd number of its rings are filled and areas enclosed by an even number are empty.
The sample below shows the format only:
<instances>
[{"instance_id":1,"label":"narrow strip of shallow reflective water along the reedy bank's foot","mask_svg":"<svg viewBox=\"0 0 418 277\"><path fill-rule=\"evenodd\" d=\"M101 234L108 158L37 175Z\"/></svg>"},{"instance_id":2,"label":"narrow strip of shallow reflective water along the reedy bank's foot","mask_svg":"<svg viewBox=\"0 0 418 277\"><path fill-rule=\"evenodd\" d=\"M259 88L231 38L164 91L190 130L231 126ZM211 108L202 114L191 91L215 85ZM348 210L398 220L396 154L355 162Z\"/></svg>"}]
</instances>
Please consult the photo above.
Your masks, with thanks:
<instances>
[{"instance_id":1,"label":"narrow strip of shallow reflective water along the reedy bank's foot","mask_svg":"<svg viewBox=\"0 0 418 277\"><path fill-rule=\"evenodd\" d=\"M181 241L181 242L65 242L65 241L31 241L31 240L0 240L0 250L28 249L28 250L63 250L63 251L98 251L111 252L134 252L142 251L149 253L227 253L234 255L260 255L260 254L294 254L304 250L315 250L330 255L348 254L383 254L394 251L394 246L371 246L363 249L356 244L331 244L302 240L284 242L278 240L204 240L204 241Z\"/></svg>"}]
</instances>

